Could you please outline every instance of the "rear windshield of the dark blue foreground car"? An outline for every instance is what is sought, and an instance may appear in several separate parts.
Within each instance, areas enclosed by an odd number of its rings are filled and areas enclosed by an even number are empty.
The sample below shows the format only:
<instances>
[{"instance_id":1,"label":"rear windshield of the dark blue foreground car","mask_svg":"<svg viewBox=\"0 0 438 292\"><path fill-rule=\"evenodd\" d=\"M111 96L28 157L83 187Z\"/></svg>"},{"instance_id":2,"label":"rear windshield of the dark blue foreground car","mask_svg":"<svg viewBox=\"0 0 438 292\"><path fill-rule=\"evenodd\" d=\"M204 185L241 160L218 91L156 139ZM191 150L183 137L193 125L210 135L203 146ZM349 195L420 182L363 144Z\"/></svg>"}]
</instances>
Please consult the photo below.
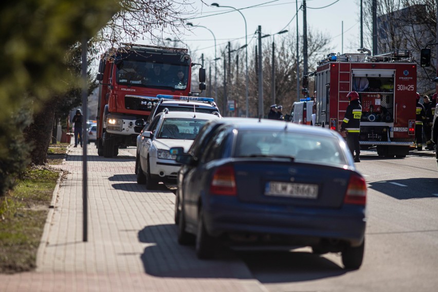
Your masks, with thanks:
<instances>
[{"instance_id":1,"label":"rear windshield of the dark blue foreground car","mask_svg":"<svg viewBox=\"0 0 438 292\"><path fill-rule=\"evenodd\" d=\"M295 162L347 164L336 138L287 131L239 131L233 156L290 156Z\"/></svg>"}]
</instances>

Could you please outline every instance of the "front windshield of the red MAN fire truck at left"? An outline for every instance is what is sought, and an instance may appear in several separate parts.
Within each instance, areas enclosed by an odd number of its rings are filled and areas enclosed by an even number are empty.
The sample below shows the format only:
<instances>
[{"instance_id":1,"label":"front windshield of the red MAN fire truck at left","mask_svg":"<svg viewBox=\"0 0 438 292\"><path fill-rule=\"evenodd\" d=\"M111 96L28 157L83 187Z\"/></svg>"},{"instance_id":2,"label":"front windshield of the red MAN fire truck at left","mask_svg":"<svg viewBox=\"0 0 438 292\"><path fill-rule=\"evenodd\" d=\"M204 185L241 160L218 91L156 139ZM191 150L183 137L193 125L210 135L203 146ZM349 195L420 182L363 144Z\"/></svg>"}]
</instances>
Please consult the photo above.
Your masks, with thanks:
<instances>
[{"instance_id":1,"label":"front windshield of the red MAN fire truck at left","mask_svg":"<svg viewBox=\"0 0 438 292\"><path fill-rule=\"evenodd\" d=\"M124 60L116 66L118 84L184 90L188 85L187 64Z\"/></svg>"}]
</instances>

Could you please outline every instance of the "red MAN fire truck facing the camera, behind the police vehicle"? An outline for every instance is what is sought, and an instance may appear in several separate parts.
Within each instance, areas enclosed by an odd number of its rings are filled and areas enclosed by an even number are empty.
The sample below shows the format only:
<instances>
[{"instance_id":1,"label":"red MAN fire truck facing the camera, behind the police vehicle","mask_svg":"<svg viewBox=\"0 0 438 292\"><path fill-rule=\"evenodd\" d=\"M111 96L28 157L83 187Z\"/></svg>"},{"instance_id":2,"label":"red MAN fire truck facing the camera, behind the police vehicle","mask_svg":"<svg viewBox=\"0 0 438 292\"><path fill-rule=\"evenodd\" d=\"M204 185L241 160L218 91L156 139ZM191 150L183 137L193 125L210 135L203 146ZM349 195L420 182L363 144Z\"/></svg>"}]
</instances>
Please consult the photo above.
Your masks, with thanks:
<instances>
[{"instance_id":1,"label":"red MAN fire truck facing the camera, behind the police vehicle","mask_svg":"<svg viewBox=\"0 0 438 292\"><path fill-rule=\"evenodd\" d=\"M120 145L135 146L142 130L135 121L148 118L157 95L190 96L193 65L183 48L122 44L104 53L96 78L98 154L113 157ZM199 82L199 89L205 89L204 68L199 69Z\"/></svg>"}]
</instances>

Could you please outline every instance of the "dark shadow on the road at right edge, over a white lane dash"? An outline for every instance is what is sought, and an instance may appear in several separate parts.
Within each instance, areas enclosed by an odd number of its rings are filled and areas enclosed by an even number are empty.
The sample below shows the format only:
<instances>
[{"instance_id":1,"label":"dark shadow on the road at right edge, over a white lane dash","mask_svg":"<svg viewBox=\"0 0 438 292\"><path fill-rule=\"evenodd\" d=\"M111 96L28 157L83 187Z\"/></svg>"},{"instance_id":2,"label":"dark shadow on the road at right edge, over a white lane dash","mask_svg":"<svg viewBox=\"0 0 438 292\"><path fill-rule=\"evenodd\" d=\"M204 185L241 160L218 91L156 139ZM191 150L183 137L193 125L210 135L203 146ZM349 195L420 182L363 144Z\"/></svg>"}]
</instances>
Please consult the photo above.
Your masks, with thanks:
<instances>
[{"instance_id":1,"label":"dark shadow on the road at right edge, over a white lane dash","mask_svg":"<svg viewBox=\"0 0 438 292\"><path fill-rule=\"evenodd\" d=\"M430 177L375 181L369 183L369 188L399 200L438 199L436 195L431 193L431 190L436 190L435 193L438 193L438 179Z\"/></svg>"}]
</instances>

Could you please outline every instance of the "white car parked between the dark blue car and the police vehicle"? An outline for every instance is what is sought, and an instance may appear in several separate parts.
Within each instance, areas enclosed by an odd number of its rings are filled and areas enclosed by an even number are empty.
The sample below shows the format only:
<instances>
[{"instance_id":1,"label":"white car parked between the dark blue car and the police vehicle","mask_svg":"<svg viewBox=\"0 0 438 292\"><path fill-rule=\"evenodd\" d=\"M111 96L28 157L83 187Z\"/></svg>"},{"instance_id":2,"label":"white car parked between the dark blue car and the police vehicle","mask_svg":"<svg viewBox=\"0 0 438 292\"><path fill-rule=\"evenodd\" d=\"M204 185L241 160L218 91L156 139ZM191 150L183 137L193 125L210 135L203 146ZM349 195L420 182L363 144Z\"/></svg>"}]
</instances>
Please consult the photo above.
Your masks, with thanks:
<instances>
[{"instance_id":1,"label":"white car parked between the dark blue car and the police vehicle","mask_svg":"<svg viewBox=\"0 0 438 292\"><path fill-rule=\"evenodd\" d=\"M180 164L170 155L171 147L188 151L201 127L220 117L198 112L158 113L137 139L136 174L138 184L149 190L159 181L176 182Z\"/></svg>"}]
</instances>

